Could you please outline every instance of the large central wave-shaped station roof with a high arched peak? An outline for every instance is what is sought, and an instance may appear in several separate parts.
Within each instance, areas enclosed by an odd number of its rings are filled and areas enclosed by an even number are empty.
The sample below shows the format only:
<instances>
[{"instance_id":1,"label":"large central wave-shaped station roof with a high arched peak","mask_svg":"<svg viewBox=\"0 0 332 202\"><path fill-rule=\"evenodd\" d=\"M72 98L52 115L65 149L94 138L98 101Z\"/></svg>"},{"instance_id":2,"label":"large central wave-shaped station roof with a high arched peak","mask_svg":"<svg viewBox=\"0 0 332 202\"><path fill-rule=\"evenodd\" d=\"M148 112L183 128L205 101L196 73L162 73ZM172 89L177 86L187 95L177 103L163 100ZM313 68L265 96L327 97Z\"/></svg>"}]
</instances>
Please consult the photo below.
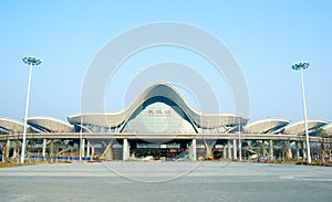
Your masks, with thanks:
<instances>
[{"instance_id":1,"label":"large central wave-shaped station roof with a high arched peak","mask_svg":"<svg viewBox=\"0 0 332 202\"><path fill-rule=\"evenodd\" d=\"M173 100L187 115L189 120L200 128L246 125L248 117L235 114L205 114L195 110L169 84L157 83L144 89L125 109L116 113L84 113L68 117L71 124L87 124L103 127L117 127L127 123L136 109L151 98L165 97Z\"/></svg>"}]
</instances>

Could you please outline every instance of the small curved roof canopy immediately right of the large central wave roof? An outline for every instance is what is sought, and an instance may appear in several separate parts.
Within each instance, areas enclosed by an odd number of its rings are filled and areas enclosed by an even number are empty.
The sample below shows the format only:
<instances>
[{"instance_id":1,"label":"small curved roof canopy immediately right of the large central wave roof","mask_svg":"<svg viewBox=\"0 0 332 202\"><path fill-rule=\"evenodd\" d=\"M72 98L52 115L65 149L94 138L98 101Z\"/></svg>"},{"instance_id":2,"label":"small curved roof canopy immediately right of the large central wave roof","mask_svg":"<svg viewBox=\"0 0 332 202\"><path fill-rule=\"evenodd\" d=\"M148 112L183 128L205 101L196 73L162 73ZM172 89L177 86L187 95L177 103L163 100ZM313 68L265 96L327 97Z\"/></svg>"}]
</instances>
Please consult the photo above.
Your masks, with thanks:
<instances>
[{"instance_id":1,"label":"small curved roof canopy immediately right of the large central wave roof","mask_svg":"<svg viewBox=\"0 0 332 202\"><path fill-rule=\"evenodd\" d=\"M276 131L287 126L290 120L287 119L262 119L251 123L245 127L247 134L267 134Z\"/></svg>"}]
</instances>

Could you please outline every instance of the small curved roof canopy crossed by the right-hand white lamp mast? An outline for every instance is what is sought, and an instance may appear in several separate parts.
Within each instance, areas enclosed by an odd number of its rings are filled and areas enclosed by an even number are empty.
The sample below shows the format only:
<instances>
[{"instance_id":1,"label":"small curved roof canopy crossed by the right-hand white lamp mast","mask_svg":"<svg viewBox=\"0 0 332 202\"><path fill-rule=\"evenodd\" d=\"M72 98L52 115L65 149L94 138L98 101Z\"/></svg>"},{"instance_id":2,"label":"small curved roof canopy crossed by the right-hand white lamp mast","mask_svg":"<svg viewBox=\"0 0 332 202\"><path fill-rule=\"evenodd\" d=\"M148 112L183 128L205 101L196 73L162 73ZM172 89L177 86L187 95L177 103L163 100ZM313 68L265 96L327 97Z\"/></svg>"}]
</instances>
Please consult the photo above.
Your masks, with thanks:
<instances>
[{"instance_id":1,"label":"small curved roof canopy crossed by the right-hand white lamp mast","mask_svg":"<svg viewBox=\"0 0 332 202\"><path fill-rule=\"evenodd\" d=\"M308 120L308 129L320 128L325 126L329 121L326 120ZM283 134L289 135L303 135L305 132L304 120L288 125L284 127Z\"/></svg>"}]
</instances>

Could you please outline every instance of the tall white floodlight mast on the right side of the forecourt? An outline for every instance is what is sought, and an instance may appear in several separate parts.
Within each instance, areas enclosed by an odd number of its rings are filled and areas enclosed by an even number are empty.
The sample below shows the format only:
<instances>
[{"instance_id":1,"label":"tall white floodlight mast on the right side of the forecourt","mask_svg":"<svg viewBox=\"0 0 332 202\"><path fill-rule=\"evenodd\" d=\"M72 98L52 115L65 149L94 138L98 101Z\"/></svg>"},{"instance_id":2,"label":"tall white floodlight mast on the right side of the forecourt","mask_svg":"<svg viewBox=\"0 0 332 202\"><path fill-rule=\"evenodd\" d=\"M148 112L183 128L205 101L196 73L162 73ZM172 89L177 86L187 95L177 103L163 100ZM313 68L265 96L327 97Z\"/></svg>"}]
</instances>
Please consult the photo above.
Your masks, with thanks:
<instances>
[{"instance_id":1,"label":"tall white floodlight mast on the right side of the forecourt","mask_svg":"<svg viewBox=\"0 0 332 202\"><path fill-rule=\"evenodd\" d=\"M300 71L301 73L301 87L302 87L302 100L303 100L303 113L304 113L304 126L305 126L305 141L307 141L307 158L308 163L311 163L310 156L310 141L309 141L309 131L308 131L308 117L307 117L307 103L305 103L305 91L304 91L304 82L303 82L303 71L309 68L309 63L299 63L292 65L292 70Z\"/></svg>"}]
</instances>

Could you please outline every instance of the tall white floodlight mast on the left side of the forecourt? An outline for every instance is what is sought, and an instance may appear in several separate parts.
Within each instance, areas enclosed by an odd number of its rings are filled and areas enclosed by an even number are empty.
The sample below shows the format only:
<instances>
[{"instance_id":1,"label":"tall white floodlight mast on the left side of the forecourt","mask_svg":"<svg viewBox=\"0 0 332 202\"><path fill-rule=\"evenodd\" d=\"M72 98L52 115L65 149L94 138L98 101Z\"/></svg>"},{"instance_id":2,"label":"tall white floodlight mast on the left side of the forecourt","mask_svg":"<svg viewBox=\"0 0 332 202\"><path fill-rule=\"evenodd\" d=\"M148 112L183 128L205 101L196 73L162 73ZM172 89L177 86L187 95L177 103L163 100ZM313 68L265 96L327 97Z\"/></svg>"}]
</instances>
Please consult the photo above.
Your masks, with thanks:
<instances>
[{"instance_id":1,"label":"tall white floodlight mast on the left side of the forecourt","mask_svg":"<svg viewBox=\"0 0 332 202\"><path fill-rule=\"evenodd\" d=\"M31 86L31 74L32 67L41 63L41 60L35 57L23 57L22 61L29 65L29 81L28 81L28 91L27 91L27 103L25 103L25 115L24 115L24 130L23 130L23 140L22 140L22 152L21 152L21 163L24 163L25 157L25 141L27 141L27 119L29 113L29 97L30 97L30 86Z\"/></svg>"}]
</instances>

